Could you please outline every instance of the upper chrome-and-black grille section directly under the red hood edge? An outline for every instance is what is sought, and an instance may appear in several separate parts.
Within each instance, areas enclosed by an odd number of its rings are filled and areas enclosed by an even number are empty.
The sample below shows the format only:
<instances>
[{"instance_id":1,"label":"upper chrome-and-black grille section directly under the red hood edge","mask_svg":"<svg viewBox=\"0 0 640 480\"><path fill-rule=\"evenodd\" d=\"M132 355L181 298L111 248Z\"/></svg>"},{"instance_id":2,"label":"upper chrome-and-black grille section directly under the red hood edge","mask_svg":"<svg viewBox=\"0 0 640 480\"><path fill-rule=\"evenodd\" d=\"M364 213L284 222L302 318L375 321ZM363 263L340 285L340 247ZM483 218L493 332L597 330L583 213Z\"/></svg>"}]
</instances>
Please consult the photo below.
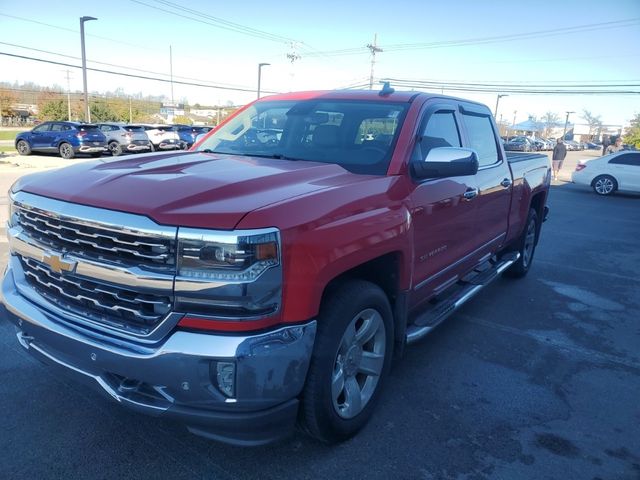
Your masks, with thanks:
<instances>
[{"instance_id":1,"label":"upper chrome-and-black grille section directly under the red hood edge","mask_svg":"<svg viewBox=\"0 0 640 480\"><path fill-rule=\"evenodd\" d=\"M99 223L77 222L50 212L20 206L16 220L39 243L56 251L117 263L166 266L175 264L173 239L145 237L109 229Z\"/></svg>"}]
</instances>

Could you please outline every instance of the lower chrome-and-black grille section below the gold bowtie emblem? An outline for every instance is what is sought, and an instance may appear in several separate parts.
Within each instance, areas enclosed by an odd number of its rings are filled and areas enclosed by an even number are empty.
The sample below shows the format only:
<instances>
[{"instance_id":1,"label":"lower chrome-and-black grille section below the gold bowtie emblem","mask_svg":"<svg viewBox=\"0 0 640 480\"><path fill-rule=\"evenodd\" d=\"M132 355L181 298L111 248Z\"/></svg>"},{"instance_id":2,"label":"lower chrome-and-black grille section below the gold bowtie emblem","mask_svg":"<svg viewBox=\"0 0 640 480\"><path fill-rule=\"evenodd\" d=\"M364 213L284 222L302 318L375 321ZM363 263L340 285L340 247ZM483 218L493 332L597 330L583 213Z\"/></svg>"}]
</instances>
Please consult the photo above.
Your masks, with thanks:
<instances>
[{"instance_id":1,"label":"lower chrome-and-black grille section below the gold bowtie emblem","mask_svg":"<svg viewBox=\"0 0 640 480\"><path fill-rule=\"evenodd\" d=\"M27 281L43 297L101 324L144 335L171 310L169 297L59 274L31 258L22 257L21 263Z\"/></svg>"}]
</instances>

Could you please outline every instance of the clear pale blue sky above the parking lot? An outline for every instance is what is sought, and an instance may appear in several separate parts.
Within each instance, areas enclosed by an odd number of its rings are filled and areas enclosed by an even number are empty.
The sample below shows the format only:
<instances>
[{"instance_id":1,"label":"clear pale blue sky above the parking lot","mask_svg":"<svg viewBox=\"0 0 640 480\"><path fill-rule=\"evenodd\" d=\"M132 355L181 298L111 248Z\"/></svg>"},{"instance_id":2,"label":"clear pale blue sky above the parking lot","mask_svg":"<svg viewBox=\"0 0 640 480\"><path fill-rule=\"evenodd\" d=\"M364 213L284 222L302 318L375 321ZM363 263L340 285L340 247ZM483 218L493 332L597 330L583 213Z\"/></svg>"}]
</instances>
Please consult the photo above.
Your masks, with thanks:
<instances>
[{"instance_id":1,"label":"clear pale blue sky above the parking lot","mask_svg":"<svg viewBox=\"0 0 640 480\"><path fill-rule=\"evenodd\" d=\"M425 90L491 110L513 84L640 92L640 0L0 0L0 53L80 65L81 16L98 18L85 23L88 67L169 79L171 48L174 80L207 85L174 83L175 101L191 105L255 99L259 63L270 64L263 92L368 87L374 35L382 49L374 88L383 79L399 90L444 82ZM78 68L0 55L0 81L66 88L67 69L71 90L81 91ZM459 91L452 83L497 87ZM89 71L88 85L171 99L165 82ZM604 124L626 125L640 113L640 94L511 92L496 117L518 123L553 112L564 120L573 111L570 122L580 123L585 109Z\"/></svg>"}]
</instances>

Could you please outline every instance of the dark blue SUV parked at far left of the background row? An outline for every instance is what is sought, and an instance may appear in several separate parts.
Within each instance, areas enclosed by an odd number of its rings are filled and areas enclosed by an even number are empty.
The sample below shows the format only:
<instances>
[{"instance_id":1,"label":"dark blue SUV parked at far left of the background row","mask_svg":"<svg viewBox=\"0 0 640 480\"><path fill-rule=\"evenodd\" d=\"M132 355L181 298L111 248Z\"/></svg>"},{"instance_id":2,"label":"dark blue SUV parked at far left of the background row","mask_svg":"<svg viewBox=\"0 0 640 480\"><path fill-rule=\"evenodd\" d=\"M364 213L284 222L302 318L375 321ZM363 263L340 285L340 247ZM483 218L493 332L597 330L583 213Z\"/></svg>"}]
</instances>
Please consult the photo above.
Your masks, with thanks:
<instances>
[{"instance_id":1,"label":"dark blue SUV parked at far left of the background row","mask_svg":"<svg viewBox=\"0 0 640 480\"><path fill-rule=\"evenodd\" d=\"M71 159L78 153L99 157L107 145L106 137L97 125L78 122L44 122L16 136L15 147L20 155L31 152L59 153Z\"/></svg>"}]
</instances>

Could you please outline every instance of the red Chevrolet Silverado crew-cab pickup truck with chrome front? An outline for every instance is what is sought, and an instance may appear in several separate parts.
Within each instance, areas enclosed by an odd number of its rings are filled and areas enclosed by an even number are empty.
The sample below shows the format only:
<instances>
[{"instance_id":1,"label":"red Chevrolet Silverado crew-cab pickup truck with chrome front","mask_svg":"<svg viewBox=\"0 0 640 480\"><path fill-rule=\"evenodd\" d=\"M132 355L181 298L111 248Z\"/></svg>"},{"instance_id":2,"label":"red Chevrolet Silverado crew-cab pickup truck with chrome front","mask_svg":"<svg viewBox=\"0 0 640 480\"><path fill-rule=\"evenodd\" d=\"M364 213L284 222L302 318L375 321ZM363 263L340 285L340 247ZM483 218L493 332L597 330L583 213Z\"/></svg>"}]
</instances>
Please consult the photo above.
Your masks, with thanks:
<instances>
[{"instance_id":1,"label":"red Chevrolet Silverado crew-cab pickup truck with chrome front","mask_svg":"<svg viewBox=\"0 0 640 480\"><path fill-rule=\"evenodd\" d=\"M527 273L549 180L474 102L267 97L188 152L20 179L4 313L36 357L196 434L340 441L406 344Z\"/></svg>"}]
</instances>

